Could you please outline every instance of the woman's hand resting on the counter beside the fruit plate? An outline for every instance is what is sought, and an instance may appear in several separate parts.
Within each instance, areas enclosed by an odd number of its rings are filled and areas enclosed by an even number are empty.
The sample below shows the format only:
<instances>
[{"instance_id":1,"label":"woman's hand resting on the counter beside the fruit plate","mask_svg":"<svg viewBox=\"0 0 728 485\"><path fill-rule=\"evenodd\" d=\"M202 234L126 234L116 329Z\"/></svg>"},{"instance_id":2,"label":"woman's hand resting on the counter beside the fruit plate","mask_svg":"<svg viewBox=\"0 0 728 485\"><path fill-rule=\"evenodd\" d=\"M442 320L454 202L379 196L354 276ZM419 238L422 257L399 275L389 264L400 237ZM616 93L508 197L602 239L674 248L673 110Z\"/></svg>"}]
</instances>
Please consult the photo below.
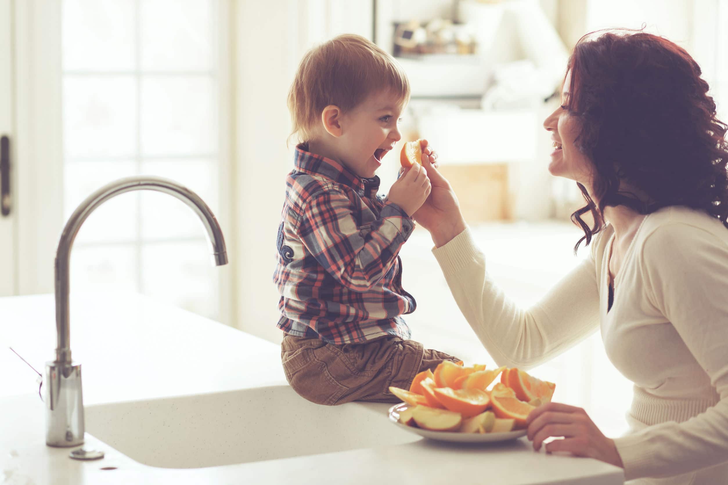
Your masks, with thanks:
<instances>
[{"instance_id":1,"label":"woman's hand resting on the counter beside the fruit plate","mask_svg":"<svg viewBox=\"0 0 728 485\"><path fill-rule=\"evenodd\" d=\"M546 452L571 452L624 468L614 440L604 436L584 409L568 404L547 403L539 406L526 419L528 438L534 450L550 436L563 436L546 444Z\"/></svg>"}]
</instances>

